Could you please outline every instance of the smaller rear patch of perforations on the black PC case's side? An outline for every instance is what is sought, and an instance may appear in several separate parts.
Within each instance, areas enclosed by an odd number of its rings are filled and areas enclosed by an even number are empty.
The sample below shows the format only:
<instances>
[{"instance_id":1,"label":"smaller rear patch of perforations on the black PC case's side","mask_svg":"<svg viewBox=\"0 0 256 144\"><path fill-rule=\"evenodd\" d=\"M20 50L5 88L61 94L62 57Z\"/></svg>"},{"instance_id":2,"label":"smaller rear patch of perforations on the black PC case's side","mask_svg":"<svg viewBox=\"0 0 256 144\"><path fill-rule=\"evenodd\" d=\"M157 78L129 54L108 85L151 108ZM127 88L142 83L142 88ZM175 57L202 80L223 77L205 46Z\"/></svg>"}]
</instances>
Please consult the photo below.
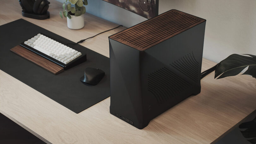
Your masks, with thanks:
<instances>
[{"instance_id":1,"label":"smaller rear patch of perforations on the black PC case's side","mask_svg":"<svg viewBox=\"0 0 256 144\"><path fill-rule=\"evenodd\" d=\"M170 64L174 69L179 70L182 74L191 78L193 81L198 81L199 63L191 52L184 57Z\"/></svg>"}]
</instances>

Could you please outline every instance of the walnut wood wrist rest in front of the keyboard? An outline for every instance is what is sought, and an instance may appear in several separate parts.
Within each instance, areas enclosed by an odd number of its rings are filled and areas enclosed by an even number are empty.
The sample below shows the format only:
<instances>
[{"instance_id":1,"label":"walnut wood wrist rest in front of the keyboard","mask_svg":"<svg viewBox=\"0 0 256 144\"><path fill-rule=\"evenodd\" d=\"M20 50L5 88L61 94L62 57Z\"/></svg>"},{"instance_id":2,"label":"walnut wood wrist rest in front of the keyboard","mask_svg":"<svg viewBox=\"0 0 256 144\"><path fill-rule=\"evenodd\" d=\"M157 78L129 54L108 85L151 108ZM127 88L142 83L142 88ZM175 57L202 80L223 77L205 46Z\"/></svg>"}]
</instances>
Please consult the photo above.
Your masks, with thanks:
<instances>
[{"instance_id":1,"label":"walnut wood wrist rest in front of the keyboard","mask_svg":"<svg viewBox=\"0 0 256 144\"><path fill-rule=\"evenodd\" d=\"M10 49L10 51L40 66L41 68L46 69L54 75L57 75L64 71L64 68L59 66L58 64L55 64L20 45L15 46L14 48Z\"/></svg>"}]
</instances>

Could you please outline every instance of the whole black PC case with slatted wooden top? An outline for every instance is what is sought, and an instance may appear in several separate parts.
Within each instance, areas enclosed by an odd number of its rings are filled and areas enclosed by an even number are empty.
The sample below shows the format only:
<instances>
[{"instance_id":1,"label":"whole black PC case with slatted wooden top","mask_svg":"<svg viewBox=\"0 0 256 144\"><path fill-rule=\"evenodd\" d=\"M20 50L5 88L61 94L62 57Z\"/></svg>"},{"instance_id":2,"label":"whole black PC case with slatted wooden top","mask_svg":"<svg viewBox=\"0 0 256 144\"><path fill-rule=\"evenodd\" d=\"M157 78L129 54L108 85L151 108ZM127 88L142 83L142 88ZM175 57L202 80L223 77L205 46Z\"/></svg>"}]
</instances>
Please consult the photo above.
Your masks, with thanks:
<instances>
[{"instance_id":1,"label":"whole black PC case with slatted wooden top","mask_svg":"<svg viewBox=\"0 0 256 144\"><path fill-rule=\"evenodd\" d=\"M143 129L200 93L205 23L173 9L110 36L110 113Z\"/></svg>"}]
</instances>

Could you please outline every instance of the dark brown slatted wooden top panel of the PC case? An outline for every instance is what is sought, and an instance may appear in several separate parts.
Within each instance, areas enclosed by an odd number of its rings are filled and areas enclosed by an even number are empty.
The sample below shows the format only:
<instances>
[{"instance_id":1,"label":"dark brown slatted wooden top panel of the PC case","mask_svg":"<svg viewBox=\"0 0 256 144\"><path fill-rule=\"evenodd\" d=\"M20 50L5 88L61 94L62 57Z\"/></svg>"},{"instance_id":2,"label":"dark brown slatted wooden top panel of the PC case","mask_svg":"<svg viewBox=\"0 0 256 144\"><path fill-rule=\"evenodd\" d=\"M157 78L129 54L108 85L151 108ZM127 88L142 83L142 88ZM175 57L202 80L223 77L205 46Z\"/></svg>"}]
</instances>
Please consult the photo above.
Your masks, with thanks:
<instances>
[{"instance_id":1,"label":"dark brown slatted wooden top panel of the PC case","mask_svg":"<svg viewBox=\"0 0 256 144\"><path fill-rule=\"evenodd\" d=\"M110 36L110 39L144 51L204 21L202 18L172 9L116 33Z\"/></svg>"}]
</instances>

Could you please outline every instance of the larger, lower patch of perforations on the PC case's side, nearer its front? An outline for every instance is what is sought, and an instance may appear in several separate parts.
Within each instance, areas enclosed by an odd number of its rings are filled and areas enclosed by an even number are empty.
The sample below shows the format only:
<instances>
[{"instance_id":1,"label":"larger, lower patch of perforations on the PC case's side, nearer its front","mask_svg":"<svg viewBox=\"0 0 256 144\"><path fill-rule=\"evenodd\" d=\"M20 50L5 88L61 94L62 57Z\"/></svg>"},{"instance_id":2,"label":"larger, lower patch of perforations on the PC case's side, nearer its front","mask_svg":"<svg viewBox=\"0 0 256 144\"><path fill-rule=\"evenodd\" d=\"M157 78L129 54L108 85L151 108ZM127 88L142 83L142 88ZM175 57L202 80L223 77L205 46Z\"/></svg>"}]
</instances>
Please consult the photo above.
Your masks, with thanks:
<instances>
[{"instance_id":1,"label":"larger, lower patch of perforations on the PC case's side, nearer its front","mask_svg":"<svg viewBox=\"0 0 256 144\"><path fill-rule=\"evenodd\" d=\"M166 67L148 75L148 91L154 95L158 105L177 96L188 86L187 81Z\"/></svg>"}]
</instances>

